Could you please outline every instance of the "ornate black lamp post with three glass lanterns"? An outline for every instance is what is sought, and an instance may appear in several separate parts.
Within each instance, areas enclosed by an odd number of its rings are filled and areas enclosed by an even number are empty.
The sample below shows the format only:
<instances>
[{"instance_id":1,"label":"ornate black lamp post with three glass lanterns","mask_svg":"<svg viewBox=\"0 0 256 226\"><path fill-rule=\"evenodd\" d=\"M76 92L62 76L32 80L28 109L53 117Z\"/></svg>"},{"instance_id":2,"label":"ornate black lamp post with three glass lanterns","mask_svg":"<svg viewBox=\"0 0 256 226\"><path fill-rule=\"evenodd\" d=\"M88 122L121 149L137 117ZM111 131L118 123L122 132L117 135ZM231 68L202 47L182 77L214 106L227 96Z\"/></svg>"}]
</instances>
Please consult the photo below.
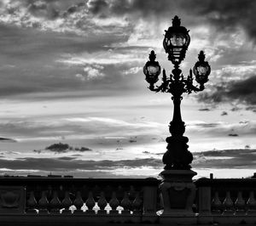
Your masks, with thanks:
<instances>
[{"instance_id":1,"label":"ornate black lamp post with three glass lanterns","mask_svg":"<svg viewBox=\"0 0 256 226\"><path fill-rule=\"evenodd\" d=\"M171 93L174 105L173 117L169 127L172 136L166 138L167 150L162 158L162 161L165 164L165 170L160 173L160 176L163 178L163 183L160 184L160 188L162 189L165 206L164 212L169 213L170 210L174 208L173 206L176 205L175 203L171 203L173 197L171 201L169 199L170 190L175 187L172 184L173 182L188 182L188 184L184 186L184 189L187 188L189 190L188 199L190 201L185 203L185 209L187 211L190 211L192 203L189 204L189 202L191 202L191 200L193 202L192 196L195 195L194 184L189 184L189 182L192 181L192 177L196 175L196 172L190 170L193 155L188 150L189 146L187 143L189 138L183 136L185 125L180 111L181 100L183 99L182 95L183 93L196 93L204 90L204 84L208 81L208 76L211 73L211 67L207 61L205 61L204 52L201 51L198 55L198 61L193 67L193 71L190 69L189 76L187 76L187 78L183 77L179 65L185 58L189 42L189 31L181 26L180 19L175 16L172 20L172 26L166 31L163 40L163 46L166 50L166 54L168 54L168 60L174 65L171 75L166 76L166 70L164 69L162 71L163 76L160 86L155 86L155 83L159 80L161 69L159 63L155 61L156 55L154 54L154 50L149 54L149 60L143 68L146 81L149 83L149 89L154 92ZM195 78L193 74L195 75ZM193 84L194 79L198 82L199 86ZM169 201L166 202L168 199Z\"/></svg>"}]
</instances>

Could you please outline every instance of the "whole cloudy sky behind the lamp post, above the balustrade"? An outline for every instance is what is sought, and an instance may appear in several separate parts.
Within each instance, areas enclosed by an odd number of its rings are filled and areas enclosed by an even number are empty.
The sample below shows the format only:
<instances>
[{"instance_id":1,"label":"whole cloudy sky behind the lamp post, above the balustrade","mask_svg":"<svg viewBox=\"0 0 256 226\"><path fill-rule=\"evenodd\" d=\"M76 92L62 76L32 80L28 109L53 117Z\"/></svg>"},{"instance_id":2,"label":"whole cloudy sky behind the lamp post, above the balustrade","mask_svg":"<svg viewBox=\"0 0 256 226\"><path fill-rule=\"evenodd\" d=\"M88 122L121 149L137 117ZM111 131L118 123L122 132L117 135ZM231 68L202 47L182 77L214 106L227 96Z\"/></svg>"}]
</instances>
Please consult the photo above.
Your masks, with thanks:
<instances>
[{"instance_id":1,"label":"whole cloudy sky behind the lamp post, above the balustrade","mask_svg":"<svg viewBox=\"0 0 256 226\"><path fill-rule=\"evenodd\" d=\"M205 91L183 95L193 168L252 175L255 11L253 0L0 1L0 174L156 177L172 100L142 69L154 49L172 70L162 39L177 14L191 37L183 74L201 49L212 67Z\"/></svg>"}]
</instances>

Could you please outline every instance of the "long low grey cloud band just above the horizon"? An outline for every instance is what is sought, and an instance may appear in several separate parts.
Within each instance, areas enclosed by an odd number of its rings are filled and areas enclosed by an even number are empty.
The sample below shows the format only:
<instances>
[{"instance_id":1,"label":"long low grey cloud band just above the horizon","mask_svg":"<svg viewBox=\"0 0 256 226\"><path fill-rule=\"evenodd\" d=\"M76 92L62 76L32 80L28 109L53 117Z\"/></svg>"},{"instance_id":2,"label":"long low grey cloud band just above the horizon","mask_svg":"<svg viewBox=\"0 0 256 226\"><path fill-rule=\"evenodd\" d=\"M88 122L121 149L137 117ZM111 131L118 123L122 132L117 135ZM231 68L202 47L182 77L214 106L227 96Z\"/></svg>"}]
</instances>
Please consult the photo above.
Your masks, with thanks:
<instances>
[{"instance_id":1,"label":"long low grey cloud band just above the horizon","mask_svg":"<svg viewBox=\"0 0 256 226\"><path fill-rule=\"evenodd\" d=\"M256 150L210 150L195 152L193 167L195 168L254 168ZM163 167L160 158L144 158L122 161L89 161L79 160L74 157L60 158L18 158L12 161L0 159L3 168L11 170L38 170L44 172L75 172L75 171L109 171L121 168L152 167L159 169Z\"/></svg>"}]
</instances>

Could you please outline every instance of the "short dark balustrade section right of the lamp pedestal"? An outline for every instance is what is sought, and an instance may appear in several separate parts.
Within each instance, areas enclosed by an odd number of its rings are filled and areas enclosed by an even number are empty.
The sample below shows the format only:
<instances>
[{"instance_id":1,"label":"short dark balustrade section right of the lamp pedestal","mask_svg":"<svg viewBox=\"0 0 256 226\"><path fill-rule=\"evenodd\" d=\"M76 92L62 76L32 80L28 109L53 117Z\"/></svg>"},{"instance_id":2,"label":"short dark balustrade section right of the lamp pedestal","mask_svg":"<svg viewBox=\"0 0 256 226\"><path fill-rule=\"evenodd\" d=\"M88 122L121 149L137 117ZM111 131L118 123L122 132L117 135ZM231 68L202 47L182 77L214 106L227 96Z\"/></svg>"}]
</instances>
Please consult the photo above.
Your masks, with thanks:
<instances>
[{"instance_id":1,"label":"short dark balustrade section right of the lamp pedestal","mask_svg":"<svg viewBox=\"0 0 256 226\"><path fill-rule=\"evenodd\" d=\"M195 181L197 212L215 223L256 223L255 178ZM204 222L205 223L205 222Z\"/></svg>"}]
</instances>

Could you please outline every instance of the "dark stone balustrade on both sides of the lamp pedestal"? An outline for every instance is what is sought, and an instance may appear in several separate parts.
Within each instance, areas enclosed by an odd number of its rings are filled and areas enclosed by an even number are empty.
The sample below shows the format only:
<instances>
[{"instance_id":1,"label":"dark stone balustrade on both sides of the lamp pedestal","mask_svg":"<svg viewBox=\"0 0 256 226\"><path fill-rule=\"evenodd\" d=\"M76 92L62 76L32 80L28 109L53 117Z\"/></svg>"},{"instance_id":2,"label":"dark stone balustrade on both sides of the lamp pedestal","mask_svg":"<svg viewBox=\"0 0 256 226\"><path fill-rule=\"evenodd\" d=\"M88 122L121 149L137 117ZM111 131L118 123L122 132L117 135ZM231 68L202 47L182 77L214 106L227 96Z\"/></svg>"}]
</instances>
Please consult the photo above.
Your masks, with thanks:
<instances>
[{"instance_id":1,"label":"dark stone balustrade on both sides of the lamp pedestal","mask_svg":"<svg viewBox=\"0 0 256 226\"><path fill-rule=\"evenodd\" d=\"M256 224L256 179L194 181L189 214L173 209L161 215L160 183L156 178L0 178L0 225Z\"/></svg>"}]
</instances>

